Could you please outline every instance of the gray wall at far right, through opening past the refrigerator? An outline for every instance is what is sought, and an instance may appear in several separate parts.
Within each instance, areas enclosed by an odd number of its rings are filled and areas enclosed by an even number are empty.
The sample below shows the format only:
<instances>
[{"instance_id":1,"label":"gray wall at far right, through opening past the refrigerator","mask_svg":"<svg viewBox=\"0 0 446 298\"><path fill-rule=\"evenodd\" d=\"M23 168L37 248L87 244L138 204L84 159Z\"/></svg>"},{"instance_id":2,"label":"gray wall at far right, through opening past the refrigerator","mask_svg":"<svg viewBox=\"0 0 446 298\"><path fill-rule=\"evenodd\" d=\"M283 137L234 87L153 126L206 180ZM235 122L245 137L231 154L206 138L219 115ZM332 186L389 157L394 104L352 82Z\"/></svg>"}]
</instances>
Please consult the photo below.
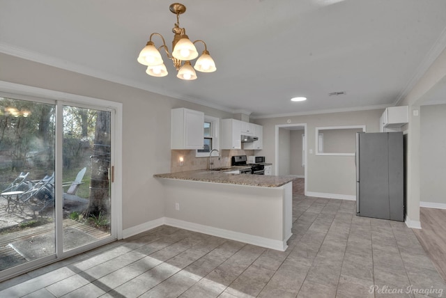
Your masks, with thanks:
<instances>
[{"instance_id":1,"label":"gray wall at far right, through opening past the refrigerator","mask_svg":"<svg viewBox=\"0 0 446 298\"><path fill-rule=\"evenodd\" d=\"M446 104L421 107L420 201L446 204Z\"/></svg>"}]
</instances>

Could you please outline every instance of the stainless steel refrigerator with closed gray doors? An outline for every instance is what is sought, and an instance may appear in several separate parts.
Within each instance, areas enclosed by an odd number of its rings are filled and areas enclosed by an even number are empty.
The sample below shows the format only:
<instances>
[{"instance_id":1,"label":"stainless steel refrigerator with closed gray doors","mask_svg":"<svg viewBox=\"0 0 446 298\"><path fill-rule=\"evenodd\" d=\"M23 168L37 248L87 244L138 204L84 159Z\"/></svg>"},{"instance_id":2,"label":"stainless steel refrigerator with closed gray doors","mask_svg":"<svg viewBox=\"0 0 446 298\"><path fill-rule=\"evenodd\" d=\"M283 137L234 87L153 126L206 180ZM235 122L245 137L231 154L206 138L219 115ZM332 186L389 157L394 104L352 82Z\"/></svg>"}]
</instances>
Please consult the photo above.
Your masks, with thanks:
<instances>
[{"instance_id":1,"label":"stainless steel refrigerator with closed gray doors","mask_svg":"<svg viewBox=\"0 0 446 298\"><path fill-rule=\"evenodd\" d=\"M356 212L404 221L402 132L356 134Z\"/></svg>"}]
</instances>

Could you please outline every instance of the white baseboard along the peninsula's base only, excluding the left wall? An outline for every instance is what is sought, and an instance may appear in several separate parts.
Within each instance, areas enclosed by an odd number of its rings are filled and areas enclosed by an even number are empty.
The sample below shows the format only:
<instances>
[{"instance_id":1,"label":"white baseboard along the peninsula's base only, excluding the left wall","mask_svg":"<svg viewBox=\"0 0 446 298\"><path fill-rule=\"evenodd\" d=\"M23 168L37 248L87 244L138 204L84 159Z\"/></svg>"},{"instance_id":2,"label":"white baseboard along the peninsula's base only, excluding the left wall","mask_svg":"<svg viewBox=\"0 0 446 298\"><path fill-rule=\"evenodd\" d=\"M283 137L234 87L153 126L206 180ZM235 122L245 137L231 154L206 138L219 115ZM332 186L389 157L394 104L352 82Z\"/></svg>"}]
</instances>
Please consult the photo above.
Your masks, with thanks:
<instances>
[{"instance_id":1,"label":"white baseboard along the peninsula's base only, excluding the left wall","mask_svg":"<svg viewBox=\"0 0 446 298\"><path fill-rule=\"evenodd\" d=\"M288 245L286 240L272 240L265 237L259 237L254 235L249 235L245 233L238 233L232 230L224 230L222 228L214 228L211 226L203 226L201 224L194 224L189 221L182 221L179 219L171 219L169 217L164 217L164 224L167 226L174 226L176 228L184 228L185 230L192 230L194 232L199 232L207 235L213 235L217 237L226 238L229 240L235 240L239 242L244 242L247 244L253 244L257 246L266 247L267 249L275 249L277 251L285 251ZM292 234L289 235L291 237Z\"/></svg>"}]
</instances>

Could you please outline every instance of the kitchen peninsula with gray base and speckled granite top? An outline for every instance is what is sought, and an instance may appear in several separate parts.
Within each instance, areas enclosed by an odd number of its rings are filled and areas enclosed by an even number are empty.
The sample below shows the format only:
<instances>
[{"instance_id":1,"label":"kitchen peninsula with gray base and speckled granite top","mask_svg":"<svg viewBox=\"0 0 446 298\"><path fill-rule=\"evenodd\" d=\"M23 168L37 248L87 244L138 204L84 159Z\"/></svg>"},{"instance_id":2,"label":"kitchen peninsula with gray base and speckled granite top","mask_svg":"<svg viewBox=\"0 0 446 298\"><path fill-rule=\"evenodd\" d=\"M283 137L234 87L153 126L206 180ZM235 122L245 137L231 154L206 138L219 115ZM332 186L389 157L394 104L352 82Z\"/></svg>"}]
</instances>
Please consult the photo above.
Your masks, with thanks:
<instances>
[{"instance_id":1,"label":"kitchen peninsula with gray base and speckled granite top","mask_svg":"<svg viewBox=\"0 0 446 298\"><path fill-rule=\"evenodd\" d=\"M224 171L155 174L166 224L284 251L291 237L294 178Z\"/></svg>"}]
</instances>

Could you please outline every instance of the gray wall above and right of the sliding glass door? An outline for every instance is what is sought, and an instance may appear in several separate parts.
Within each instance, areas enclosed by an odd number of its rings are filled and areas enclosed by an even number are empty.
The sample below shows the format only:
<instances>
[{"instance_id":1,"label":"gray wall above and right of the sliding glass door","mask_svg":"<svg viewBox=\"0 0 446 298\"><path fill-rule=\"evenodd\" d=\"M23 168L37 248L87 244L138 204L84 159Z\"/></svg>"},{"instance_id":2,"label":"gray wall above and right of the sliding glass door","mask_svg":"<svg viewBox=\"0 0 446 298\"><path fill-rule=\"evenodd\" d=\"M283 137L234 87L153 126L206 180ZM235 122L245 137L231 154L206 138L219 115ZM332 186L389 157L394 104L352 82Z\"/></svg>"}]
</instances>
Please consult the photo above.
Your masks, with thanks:
<instances>
[{"instance_id":1,"label":"gray wall above and right of the sliding glass door","mask_svg":"<svg viewBox=\"0 0 446 298\"><path fill-rule=\"evenodd\" d=\"M164 190L155 173L171 166L171 109L231 113L0 54L0 80L123 103L123 228L164 217ZM153 78L155 79L155 78Z\"/></svg>"}]
</instances>

